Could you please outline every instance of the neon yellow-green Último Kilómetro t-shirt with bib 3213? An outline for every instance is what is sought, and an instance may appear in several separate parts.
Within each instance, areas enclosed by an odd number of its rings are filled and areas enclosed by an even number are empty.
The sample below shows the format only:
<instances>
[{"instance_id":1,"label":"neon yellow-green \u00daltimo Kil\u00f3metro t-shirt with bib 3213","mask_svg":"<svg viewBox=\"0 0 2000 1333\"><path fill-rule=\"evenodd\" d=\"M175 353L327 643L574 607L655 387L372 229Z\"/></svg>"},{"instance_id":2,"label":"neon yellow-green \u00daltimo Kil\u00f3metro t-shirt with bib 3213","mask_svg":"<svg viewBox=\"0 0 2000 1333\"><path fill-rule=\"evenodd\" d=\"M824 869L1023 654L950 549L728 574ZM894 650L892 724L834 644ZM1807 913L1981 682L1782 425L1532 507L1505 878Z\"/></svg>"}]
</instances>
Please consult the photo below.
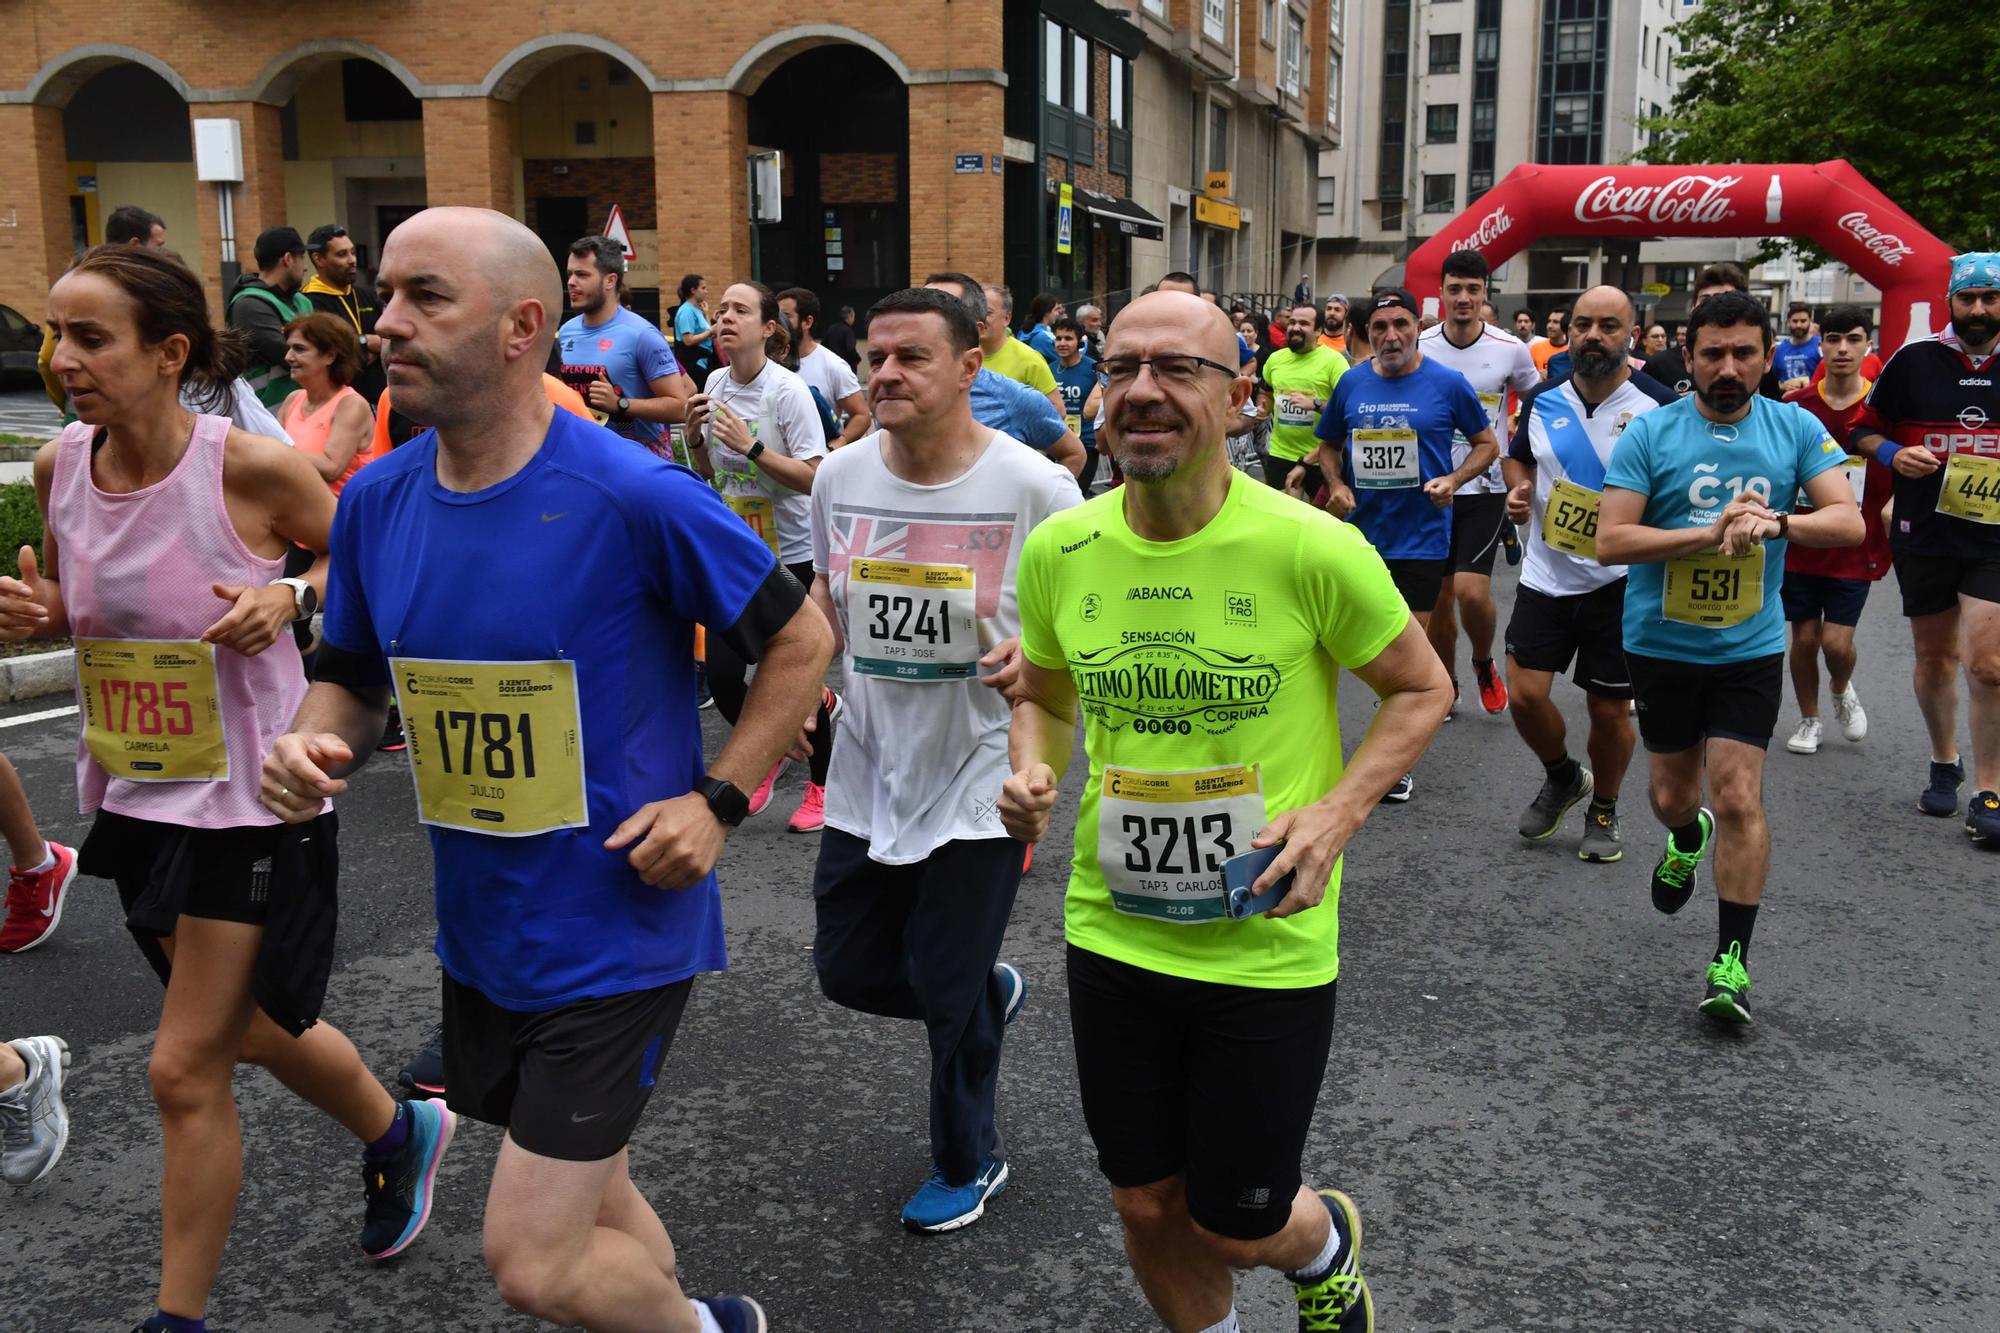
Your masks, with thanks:
<instances>
[{"instance_id":1,"label":"neon yellow-green \u00daltimo Kil\u00f3metro t-shirt with bib 3213","mask_svg":"<svg viewBox=\"0 0 2000 1333\"><path fill-rule=\"evenodd\" d=\"M1068 671L1084 713L1070 943L1194 981L1332 981L1340 867L1310 911L1230 921L1222 861L1340 781L1338 669L1410 618L1374 548L1232 472L1222 510L1178 542L1134 536L1118 490L1052 514L1018 588L1022 650Z\"/></svg>"}]
</instances>

